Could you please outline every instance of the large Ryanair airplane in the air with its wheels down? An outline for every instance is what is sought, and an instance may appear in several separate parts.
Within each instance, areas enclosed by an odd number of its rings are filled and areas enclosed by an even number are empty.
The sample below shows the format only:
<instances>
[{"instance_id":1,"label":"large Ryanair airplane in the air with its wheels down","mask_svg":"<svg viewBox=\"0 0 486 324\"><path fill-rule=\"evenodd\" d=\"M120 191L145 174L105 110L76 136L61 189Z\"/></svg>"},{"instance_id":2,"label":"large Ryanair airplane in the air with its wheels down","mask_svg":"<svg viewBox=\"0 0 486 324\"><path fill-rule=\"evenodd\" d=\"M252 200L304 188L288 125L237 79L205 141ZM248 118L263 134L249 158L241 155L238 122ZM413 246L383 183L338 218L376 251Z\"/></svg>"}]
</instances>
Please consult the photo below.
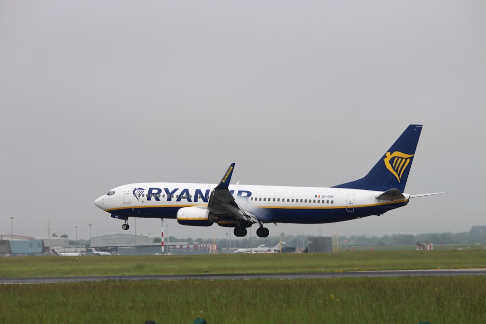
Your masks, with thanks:
<instances>
[{"instance_id":1,"label":"large Ryanair airplane in the air with its wheels down","mask_svg":"<svg viewBox=\"0 0 486 324\"><path fill-rule=\"evenodd\" d=\"M94 204L124 221L129 217L177 219L181 225L234 227L237 237L258 224L342 222L405 206L411 198L443 192L404 193L422 125L409 125L362 178L330 188L230 185L232 163L218 184L134 183L109 190Z\"/></svg>"}]
</instances>

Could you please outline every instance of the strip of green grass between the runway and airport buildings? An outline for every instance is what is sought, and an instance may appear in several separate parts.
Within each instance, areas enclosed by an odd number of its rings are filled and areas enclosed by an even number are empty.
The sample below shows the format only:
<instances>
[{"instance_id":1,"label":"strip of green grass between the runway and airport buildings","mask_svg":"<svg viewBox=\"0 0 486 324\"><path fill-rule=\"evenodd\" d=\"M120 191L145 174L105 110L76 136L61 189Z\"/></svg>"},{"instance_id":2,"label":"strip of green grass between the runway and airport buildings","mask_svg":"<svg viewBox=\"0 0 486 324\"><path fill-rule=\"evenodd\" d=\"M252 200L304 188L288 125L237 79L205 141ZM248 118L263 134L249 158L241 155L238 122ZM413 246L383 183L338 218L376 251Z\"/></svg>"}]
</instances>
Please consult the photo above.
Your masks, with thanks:
<instances>
[{"instance_id":1,"label":"strip of green grass between the runway and airport buildings","mask_svg":"<svg viewBox=\"0 0 486 324\"><path fill-rule=\"evenodd\" d=\"M76 275L293 273L486 268L486 250L327 254L3 257L0 278Z\"/></svg>"}]
</instances>

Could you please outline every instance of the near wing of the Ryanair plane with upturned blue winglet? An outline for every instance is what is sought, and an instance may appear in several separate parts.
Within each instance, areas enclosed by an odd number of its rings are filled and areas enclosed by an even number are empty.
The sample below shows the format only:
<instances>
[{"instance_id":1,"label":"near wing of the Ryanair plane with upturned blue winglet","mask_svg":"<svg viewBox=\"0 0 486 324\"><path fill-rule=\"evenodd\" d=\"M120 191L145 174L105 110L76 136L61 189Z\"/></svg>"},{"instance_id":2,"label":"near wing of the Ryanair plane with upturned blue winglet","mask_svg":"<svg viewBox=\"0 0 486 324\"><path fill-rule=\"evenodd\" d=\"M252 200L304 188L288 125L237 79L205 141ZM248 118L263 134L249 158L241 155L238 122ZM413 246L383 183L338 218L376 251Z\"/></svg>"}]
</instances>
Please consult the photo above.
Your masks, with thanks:
<instances>
[{"instance_id":1,"label":"near wing of the Ryanair plane with upturned blue winglet","mask_svg":"<svg viewBox=\"0 0 486 324\"><path fill-rule=\"evenodd\" d=\"M232 163L219 184L211 192L208 209L214 214L231 214L245 222L258 223L256 216L238 205L229 192L228 186L234 169L235 163Z\"/></svg>"}]
</instances>

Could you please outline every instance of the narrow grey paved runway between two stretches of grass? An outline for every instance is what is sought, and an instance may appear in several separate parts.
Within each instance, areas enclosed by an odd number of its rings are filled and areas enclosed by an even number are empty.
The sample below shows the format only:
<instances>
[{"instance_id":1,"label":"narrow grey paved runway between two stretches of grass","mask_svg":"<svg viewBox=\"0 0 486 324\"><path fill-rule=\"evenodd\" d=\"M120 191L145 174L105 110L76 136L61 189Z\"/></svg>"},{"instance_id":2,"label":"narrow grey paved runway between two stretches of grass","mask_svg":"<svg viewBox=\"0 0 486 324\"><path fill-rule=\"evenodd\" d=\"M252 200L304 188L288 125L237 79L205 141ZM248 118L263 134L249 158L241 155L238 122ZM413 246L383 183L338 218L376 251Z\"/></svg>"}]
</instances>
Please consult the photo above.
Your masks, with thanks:
<instances>
[{"instance_id":1,"label":"narrow grey paved runway between two stretches of grass","mask_svg":"<svg viewBox=\"0 0 486 324\"><path fill-rule=\"evenodd\" d=\"M322 273L228 273L228 274L169 274L169 275L92 275L73 277L0 278L0 284L43 284L58 282L83 282L104 280L252 280L252 279L336 279L418 276L478 276L486 275L486 269L431 269L391 271L351 271Z\"/></svg>"}]
</instances>

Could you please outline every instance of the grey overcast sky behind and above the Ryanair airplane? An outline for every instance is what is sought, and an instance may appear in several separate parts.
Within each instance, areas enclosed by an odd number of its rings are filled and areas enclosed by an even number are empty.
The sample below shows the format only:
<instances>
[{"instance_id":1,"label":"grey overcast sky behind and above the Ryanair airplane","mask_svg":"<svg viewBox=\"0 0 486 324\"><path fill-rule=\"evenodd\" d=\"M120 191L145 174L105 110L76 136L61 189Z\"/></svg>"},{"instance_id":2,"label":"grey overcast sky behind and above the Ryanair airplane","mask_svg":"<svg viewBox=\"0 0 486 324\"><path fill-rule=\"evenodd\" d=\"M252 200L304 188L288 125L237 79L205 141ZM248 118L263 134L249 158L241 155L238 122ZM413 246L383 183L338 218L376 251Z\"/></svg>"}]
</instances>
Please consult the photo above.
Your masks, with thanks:
<instances>
[{"instance_id":1,"label":"grey overcast sky behind and above the Ryanair airplane","mask_svg":"<svg viewBox=\"0 0 486 324\"><path fill-rule=\"evenodd\" d=\"M334 186L411 123L424 128L406 192L446 194L270 235L486 225L485 17L483 0L1 0L0 234L10 217L35 238L48 223L71 239L88 223L93 237L127 233L97 197L216 183L232 162L233 183ZM165 224L180 238L227 231ZM160 220L136 229L159 234Z\"/></svg>"}]
</instances>

